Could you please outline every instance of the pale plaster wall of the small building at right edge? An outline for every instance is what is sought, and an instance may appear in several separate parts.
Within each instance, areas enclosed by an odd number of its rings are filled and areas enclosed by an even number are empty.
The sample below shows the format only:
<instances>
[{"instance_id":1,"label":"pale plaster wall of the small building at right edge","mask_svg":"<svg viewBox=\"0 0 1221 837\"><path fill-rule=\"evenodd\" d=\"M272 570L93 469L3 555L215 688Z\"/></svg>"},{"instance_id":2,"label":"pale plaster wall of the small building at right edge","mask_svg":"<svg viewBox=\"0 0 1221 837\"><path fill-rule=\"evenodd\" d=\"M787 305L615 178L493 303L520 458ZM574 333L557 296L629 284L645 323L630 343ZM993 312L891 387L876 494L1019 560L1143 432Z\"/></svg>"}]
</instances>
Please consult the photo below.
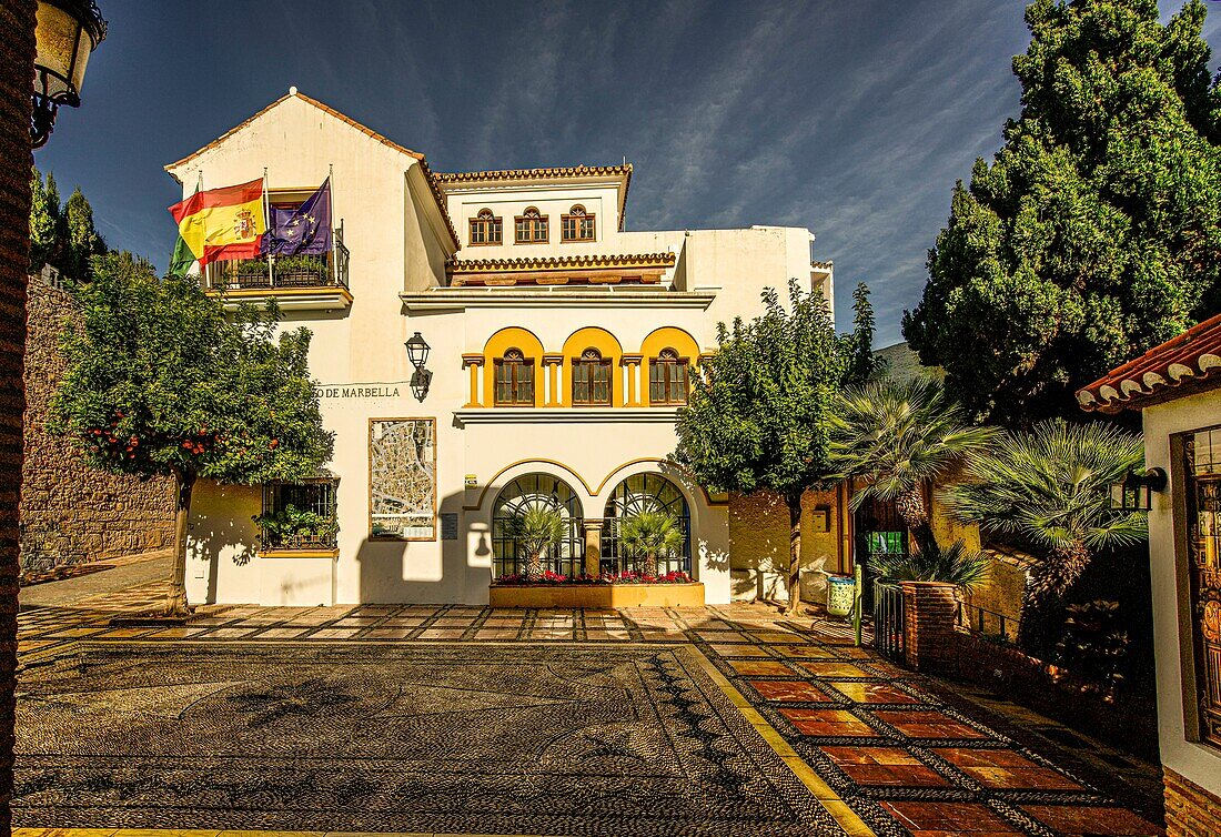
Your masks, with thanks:
<instances>
[{"instance_id":1,"label":"pale plaster wall of the small building at right edge","mask_svg":"<svg viewBox=\"0 0 1221 837\"><path fill-rule=\"evenodd\" d=\"M1221 751L1189 738L1195 732L1195 689L1184 693L1194 666L1188 620L1187 556L1175 543L1175 508L1182 510L1184 480L1171 453L1171 436L1221 424L1221 391L1179 398L1144 411L1145 463L1170 474L1166 491L1154 494L1149 512L1149 565L1153 579L1154 643L1158 668L1158 732L1164 765L1205 791L1221 795Z\"/></svg>"}]
</instances>

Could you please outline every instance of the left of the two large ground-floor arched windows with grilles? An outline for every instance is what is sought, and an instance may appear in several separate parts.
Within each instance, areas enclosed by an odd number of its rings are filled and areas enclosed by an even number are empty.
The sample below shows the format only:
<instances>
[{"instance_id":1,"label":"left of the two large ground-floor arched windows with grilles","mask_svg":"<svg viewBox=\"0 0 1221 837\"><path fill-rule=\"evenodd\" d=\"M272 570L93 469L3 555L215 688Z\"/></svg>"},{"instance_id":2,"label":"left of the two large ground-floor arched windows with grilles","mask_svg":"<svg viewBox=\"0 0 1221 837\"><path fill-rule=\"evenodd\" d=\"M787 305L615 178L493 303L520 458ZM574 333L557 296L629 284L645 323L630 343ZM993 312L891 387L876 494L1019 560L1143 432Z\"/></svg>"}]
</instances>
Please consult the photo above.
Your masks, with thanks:
<instances>
[{"instance_id":1,"label":"left of the two large ground-floor arched windows with grilles","mask_svg":"<svg viewBox=\"0 0 1221 837\"><path fill-rule=\"evenodd\" d=\"M559 510L568 524L567 538L559 546L547 551L543 568L564 576L579 576L584 572L581 503L576 492L558 477L525 474L505 485L492 507L492 574L496 578L525 571L529 556L513 536L512 521L536 506Z\"/></svg>"}]
</instances>

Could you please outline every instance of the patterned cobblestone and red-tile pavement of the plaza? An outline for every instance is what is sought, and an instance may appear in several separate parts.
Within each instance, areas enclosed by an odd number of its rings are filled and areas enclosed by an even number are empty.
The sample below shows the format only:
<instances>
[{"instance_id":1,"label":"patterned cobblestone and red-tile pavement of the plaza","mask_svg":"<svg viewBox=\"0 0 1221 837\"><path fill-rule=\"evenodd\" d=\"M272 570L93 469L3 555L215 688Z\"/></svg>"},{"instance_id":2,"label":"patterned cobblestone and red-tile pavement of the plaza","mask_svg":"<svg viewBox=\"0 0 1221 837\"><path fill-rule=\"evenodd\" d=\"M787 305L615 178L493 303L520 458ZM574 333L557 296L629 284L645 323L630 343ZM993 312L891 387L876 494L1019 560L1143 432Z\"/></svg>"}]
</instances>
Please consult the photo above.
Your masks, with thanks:
<instances>
[{"instance_id":1,"label":"patterned cobblestone and red-tile pavement of the plaza","mask_svg":"<svg viewBox=\"0 0 1221 837\"><path fill-rule=\"evenodd\" d=\"M161 598L20 615L22 837L1160 833L1116 771L1032 733L1055 725L896 668L840 623L364 605L110 626Z\"/></svg>"}]
</instances>

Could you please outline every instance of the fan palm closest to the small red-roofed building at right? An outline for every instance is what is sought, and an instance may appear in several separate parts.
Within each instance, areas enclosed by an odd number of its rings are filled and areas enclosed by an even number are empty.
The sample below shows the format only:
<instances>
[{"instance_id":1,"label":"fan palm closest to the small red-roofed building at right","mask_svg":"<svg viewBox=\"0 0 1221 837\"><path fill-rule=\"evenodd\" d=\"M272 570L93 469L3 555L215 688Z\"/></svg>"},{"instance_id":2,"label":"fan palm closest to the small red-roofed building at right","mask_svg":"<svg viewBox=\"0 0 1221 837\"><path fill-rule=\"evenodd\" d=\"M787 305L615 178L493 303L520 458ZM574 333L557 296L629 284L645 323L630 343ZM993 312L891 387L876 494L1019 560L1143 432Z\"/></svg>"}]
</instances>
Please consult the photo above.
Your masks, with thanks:
<instances>
[{"instance_id":1,"label":"fan palm closest to the small red-roofed building at right","mask_svg":"<svg viewBox=\"0 0 1221 837\"><path fill-rule=\"evenodd\" d=\"M963 481L939 497L960 521L1045 552L1031 567L1028 598L1061 596L1098 550L1148 536L1144 514L1110 502L1110 486L1143 463L1137 435L1103 423L1043 422L974 452Z\"/></svg>"}]
</instances>

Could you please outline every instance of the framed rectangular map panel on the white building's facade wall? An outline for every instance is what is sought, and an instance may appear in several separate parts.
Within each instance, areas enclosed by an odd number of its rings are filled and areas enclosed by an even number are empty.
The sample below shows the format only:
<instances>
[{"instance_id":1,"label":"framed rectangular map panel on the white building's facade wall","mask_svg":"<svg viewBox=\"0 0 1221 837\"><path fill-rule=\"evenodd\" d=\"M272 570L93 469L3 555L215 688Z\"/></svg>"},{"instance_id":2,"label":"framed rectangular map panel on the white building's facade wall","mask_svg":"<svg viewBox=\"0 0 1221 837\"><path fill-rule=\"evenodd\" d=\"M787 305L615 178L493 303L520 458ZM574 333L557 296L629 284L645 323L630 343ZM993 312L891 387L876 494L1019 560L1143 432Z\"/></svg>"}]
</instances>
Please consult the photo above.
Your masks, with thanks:
<instances>
[{"instance_id":1,"label":"framed rectangular map panel on the white building's facade wall","mask_svg":"<svg viewBox=\"0 0 1221 837\"><path fill-rule=\"evenodd\" d=\"M435 419L369 423L369 513L372 538L433 540L437 499Z\"/></svg>"}]
</instances>

